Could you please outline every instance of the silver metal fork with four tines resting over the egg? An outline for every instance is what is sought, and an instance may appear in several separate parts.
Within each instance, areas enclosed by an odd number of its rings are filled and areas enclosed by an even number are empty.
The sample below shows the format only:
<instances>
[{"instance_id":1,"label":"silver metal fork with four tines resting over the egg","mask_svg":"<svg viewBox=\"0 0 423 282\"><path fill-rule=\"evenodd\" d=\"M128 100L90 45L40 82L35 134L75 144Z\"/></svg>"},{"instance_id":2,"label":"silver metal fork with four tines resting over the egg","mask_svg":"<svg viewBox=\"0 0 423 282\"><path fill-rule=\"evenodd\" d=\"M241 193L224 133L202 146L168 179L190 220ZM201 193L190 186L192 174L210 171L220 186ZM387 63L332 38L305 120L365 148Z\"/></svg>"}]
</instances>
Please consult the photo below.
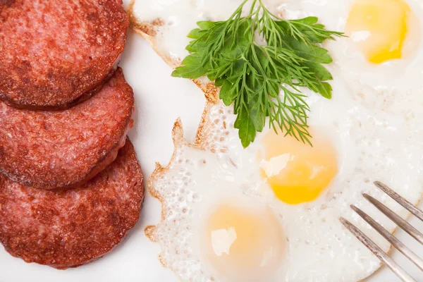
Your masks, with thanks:
<instances>
[{"instance_id":1,"label":"silver metal fork with four tines resting over the egg","mask_svg":"<svg viewBox=\"0 0 423 282\"><path fill-rule=\"evenodd\" d=\"M405 200L403 197L398 195L398 193L394 192L384 183L381 183L379 181L376 181L374 183L378 188L380 188L382 191L384 191L386 194L389 195L393 200L396 200L398 204L405 207L409 212L417 216L420 220L423 221L423 212L415 207L415 205L411 204L407 200ZM410 223L402 219L398 214L394 213L391 209L386 207L384 204L379 202L378 200L374 199L374 197L367 195L366 193L363 194L363 197L371 202L379 211L384 213L386 216L388 216L389 219L391 219L393 222L395 222L400 228L403 228L405 232L410 234L413 238L415 238L419 243L423 244L423 234L417 231L416 228L412 227ZM372 226L374 229L376 229L379 234L381 234L386 240L388 240L389 243L391 243L394 247L396 247L397 250L403 253L405 257L410 259L415 265L419 267L423 271L423 259L419 258L412 250L410 250L408 247L406 247L403 243L401 243L397 238L395 238L389 231L387 231L385 228L383 228L379 223L377 223L372 217L368 216L366 213L364 213L361 209L355 207L355 205L351 205L351 208L359 214L362 219L367 221L370 226ZM376 257L378 257L381 262L384 262L386 266L393 271L394 274L396 274L402 281L405 282L417 282L410 274L407 274L407 272L401 268L396 262L389 257L386 252L384 252L380 247L378 247L372 240L367 237L362 231L360 231L357 227L355 227L350 221L344 219L343 217L340 218L343 225L348 228L348 230L357 237L358 240L361 241L369 250L371 250Z\"/></svg>"}]
</instances>

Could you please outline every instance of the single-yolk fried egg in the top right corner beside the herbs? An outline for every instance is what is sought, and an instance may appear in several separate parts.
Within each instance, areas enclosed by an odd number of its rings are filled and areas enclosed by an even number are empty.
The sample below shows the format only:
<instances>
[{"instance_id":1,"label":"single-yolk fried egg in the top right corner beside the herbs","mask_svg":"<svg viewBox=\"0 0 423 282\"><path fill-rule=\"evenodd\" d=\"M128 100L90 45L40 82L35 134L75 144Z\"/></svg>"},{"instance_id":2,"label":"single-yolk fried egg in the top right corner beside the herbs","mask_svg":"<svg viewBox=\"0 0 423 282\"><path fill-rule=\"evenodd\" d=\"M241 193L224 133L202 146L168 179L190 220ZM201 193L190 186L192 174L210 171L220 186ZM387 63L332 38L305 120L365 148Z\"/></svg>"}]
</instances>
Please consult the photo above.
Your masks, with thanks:
<instances>
[{"instance_id":1,"label":"single-yolk fried egg in the top right corner beside the herbs","mask_svg":"<svg viewBox=\"0 0 423 282\"><path fill-rule=\"evenodd\" d=\"M421 1L287 0L279 9L286 18L317 16L329 29L345 32L347 37L324 47L353 99L391 113L411 102L423 105L423 95L412 94L423 93ZM420 111L398 114L421 116Z\"/></svg>"}]
</instances>

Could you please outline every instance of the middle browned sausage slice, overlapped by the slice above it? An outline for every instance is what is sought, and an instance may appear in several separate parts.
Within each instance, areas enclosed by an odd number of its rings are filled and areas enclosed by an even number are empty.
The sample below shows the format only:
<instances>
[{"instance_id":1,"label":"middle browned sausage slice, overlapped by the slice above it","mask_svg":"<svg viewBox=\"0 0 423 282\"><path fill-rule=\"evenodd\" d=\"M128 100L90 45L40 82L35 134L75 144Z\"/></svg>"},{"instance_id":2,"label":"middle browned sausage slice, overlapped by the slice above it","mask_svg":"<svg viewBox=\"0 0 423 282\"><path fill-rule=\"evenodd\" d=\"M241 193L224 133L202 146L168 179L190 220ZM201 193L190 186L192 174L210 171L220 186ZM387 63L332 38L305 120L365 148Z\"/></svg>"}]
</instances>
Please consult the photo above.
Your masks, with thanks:
<instances>
[{"instance_id":1,"label":"middle browned sausage slice, overlapped by the slice above it","mask_svg":"<svg viewBox=\"0 0 423 282\"><path fill-rule=\"evenodd\" d=\"M71 109L30 111L0 102L0 172L35 188L78 187L114 161L132 127L133 106L121 68Z\"/></svg>"}]
</instances>

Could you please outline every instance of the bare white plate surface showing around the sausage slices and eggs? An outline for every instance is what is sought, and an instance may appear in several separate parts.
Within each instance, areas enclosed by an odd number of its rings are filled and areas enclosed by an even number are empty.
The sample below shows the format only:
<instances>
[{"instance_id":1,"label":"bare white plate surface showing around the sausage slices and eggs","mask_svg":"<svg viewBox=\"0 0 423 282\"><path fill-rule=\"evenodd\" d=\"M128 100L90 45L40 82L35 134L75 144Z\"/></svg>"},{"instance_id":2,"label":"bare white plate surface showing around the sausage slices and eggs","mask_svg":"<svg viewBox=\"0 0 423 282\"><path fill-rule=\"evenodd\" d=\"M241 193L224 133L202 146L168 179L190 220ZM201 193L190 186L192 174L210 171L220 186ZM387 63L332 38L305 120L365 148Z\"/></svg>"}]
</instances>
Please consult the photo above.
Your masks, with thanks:
<instances>
[{"instance_id":1,"label":"bare white plate surface showing around the sausage slices and eggs","mask_svg":"<svg viewBox=\"0 0 423 282\"><path fill-rule=\"evenodd\" d=\"M183 121L185 137L190 141L194 139L205 99L200 89L189 80L172 78L171 68L135 32L128 32L120 66L135 92L135 128L129 136L135 145L147 183L155 162L166 165L171 157L171 129L176 118L180 117ZM0 282L177 282L176 276L159 264L159 245L150 242L144 234L146 226L159 222L160 210L159 202L146 193L140 221L123 243L97 262L77 269L60 271L48 266L26 264L0 247ZM417 219L412 219L412 223L423 231L423 223ZM396 235L423 257L423 247L419 243L402 231ZM393 257L417 281L423 281L423 273L407 262L403 255L394 251ZM399 280L383 267L367 281Z\"/></svg>"}]
</instances>

